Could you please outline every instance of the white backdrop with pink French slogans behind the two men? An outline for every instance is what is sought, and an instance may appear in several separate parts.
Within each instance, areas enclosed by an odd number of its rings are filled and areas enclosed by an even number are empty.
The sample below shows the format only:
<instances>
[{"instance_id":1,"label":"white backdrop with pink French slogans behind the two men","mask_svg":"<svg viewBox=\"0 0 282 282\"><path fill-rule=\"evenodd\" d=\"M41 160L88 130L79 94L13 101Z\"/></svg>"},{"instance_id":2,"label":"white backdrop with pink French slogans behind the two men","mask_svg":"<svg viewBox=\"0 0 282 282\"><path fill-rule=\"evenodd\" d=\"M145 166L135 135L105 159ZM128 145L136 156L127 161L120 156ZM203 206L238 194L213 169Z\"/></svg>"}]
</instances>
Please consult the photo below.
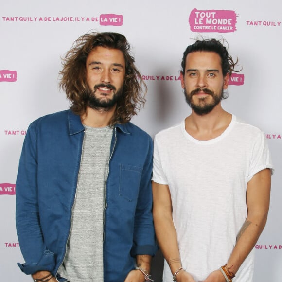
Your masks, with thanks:
<instances>
[{"instance_id":1,"label":"white backdrop with pink French slogans behind the two men","mask_svg":"<svg viewBox=\"0 0 282 282\"><path fill-rule=\"evenodd\" d=\"M0 2L0 280L28 282L15 228L18 159L29 123L69 107L58 89L60 57L90 30L124 34L148 86L133 122L152 137L190 113L179 81L186 46L225 38L243 70L223 107L260 127L275 165L267 225L256 248L255 282L282 282L282 4L277 0L14 0ZM52 136L50 136L52 138ZM244 138L244 136L242 136ZM161 281L161 256L153 262Z\"/></svg>"}]
</instances>

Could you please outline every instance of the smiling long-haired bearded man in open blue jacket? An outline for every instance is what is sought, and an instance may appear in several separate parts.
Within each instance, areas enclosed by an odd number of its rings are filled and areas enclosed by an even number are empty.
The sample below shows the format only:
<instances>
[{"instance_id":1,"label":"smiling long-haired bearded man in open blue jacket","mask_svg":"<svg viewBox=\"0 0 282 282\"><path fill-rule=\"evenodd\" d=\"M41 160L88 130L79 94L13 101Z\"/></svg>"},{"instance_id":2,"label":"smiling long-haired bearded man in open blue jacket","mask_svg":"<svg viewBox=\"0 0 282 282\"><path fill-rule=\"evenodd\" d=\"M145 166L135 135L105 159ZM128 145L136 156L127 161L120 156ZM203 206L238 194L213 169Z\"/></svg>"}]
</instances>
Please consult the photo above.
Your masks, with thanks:
<instances>
[{"instance_id":1,"label":"smiling long-haired bearded man in open blue jacket","mask_svg":"<svg viewBox=\"0 0 282 282\"><path fill-rule=\"evenodd\" d=\"M129 43L83 35L60 74L71 109L31 123L19 161L18 265L35 282L148 281L152 140L130 123L146 86Z\"/></svg>"}]
</instances>

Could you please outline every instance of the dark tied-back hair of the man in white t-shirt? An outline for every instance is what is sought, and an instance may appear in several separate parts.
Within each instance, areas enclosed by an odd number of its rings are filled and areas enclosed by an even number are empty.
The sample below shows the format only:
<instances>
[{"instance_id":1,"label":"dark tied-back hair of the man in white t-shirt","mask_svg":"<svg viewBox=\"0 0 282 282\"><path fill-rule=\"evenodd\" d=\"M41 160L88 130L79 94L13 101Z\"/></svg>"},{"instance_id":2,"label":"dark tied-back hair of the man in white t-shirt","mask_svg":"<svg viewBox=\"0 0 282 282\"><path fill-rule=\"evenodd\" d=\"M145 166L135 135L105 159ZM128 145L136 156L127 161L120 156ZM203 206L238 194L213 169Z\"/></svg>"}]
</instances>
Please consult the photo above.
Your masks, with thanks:
<instances>
[{"instance_id":1,"label":"dark tied-back hair of the man in white t-shirt","mask_svg":"<svg viewBox=\"0 0 282 282\"><path fill-rule=\"evenodd\" d=\"M182 67L181 73L184 74L185 72L186 57L189 53L206 51L206 52L215 52L220 56L223 76L226 76L227 73L231 75L232 71L235 71L234 68L238 63L238 59L236 60L236 62L233 61L232 57L227 52L227 48L223 45L223 43L224 43L224 39L216 40L212 38L212 39L196 40L196 42L192 45L189 45L183 53L183 58L181 62L181 67Z\"/></svg>"}]
</instances>

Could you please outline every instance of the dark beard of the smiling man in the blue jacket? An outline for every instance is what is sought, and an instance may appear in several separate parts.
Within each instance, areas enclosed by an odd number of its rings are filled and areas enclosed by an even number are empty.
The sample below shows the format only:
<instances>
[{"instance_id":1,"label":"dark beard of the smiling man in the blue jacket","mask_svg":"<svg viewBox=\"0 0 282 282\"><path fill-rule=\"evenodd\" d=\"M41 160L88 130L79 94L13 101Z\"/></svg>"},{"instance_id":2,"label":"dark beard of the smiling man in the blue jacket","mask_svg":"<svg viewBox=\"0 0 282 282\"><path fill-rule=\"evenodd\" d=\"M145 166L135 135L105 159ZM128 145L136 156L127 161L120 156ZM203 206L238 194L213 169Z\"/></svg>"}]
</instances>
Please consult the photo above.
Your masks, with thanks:
<instances>
[{"instance_id":1,"label":"dark beard of the smiling man in the blue jacket","mask_svg":"<svg viewBox=\"0 0 282 282\"><path fill-rule=\"evenodd\" d=\"M106 88L110 88L111 90L113 90L114 94L112 98L108 98L106 96L105 98L104 97L97 98L95 95L95 92L100 87L106 87ZM114 106L116 106L116 104L118 103L122 95L123 95L123 87L119 88L116 91L116 88L111 84L103 84L103 83L97 84L94 86L94 91L88 88L88 92L86 93L86 103L87 103L87 106L92 109L99 109L99 110L107 111L113 108Z\"/></svg>"}]
</instances>

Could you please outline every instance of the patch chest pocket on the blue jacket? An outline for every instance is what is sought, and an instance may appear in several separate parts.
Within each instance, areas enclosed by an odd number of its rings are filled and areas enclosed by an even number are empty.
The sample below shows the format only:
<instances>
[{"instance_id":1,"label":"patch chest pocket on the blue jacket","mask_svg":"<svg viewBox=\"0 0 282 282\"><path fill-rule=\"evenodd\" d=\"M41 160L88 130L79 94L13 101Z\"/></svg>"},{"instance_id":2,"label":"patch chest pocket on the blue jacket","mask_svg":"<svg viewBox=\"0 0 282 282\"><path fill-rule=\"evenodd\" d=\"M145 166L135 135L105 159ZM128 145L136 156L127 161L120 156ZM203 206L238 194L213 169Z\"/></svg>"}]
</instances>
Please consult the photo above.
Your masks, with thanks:
<instances>
[{"instance_id":1,"label":"patch chest pocket on the blue jacket","mask_svg":"<svg viewBox=\"0 0 282 282\"><path fill-rule=\"evenodd\" d=\"M128 164L120 164L119 196L127 201L136 201L143 168Z\"/></svg>"}]
</instances>

